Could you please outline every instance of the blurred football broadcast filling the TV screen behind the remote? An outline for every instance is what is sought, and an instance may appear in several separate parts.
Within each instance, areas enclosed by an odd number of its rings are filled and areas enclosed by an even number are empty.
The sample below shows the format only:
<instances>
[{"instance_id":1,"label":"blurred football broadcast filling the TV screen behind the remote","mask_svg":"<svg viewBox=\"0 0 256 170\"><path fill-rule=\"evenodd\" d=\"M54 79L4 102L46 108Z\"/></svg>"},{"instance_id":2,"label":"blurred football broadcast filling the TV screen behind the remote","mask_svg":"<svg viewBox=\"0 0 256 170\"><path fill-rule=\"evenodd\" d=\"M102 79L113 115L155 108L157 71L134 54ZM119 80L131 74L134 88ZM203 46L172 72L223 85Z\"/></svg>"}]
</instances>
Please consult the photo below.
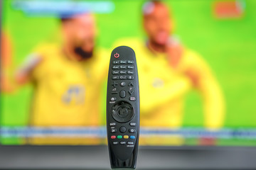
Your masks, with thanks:
<instances>
[{"instance_id":1,"label":"blurred football broadcast filling the TV screen behind the remote","mask_svg":"<svg viewBox=\"0 0 256 170\"><path fill-rule=\"evenodd\" d=\"M2 1L1 145L105 145L110 52L128 45L139 67L140 145L255 146L255 7Z\"/></svg>"}]
</instances>

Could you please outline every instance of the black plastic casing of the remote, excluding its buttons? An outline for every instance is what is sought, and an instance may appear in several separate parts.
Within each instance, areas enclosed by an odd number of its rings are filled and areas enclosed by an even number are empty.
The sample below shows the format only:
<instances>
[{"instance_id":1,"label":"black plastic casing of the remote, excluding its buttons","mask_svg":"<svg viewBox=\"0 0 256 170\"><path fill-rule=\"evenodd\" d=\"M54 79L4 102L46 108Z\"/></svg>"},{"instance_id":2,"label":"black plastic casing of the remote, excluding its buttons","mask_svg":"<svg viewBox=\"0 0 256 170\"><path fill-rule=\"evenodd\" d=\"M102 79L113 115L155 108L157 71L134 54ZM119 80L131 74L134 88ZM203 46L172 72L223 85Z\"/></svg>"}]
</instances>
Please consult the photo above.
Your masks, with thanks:
<instances>
[{"instance_id":1,"label":"black plastic casing of the remote, excluding its buttons","mask_svg":"<svg viewBox=\"0 0 256 170\"><path fill-rule=\"evenodd\" d=\"M114 55L116 57L114 57ZM117 57L117 55L119 55ZM124 70L124 69L112 69L114 65L113 61L134 61L134 74L132 76L134 79L115 79L113 80L112 77L115 76L112 74L113 71L117 70ZM118 65L129 65L129 64L118 64ZM138 79L138 72L137 72L137 62L135 58L135 53L132 48L127 46L120 46L115 48L112 51L111 57L110 57L110 67L109 67L109 74L108 74L108 81L107 81L107 142L108 142L108 148L110 153L110 164L112 169L135 169L136 168L136 162L137 162L137 152L138 152L138 146L139 146L139 79ZM125 69L129 70L129 69ZM120 76L120 74L117 74ZM130 82L132 81L132 84L134 86L128 86ZM117 86L113 86L113 83L116 83ZM120 86L121 82L125 82L126 86ZM116 88L117 94L113 94L113 89ZM128 93L129 90L134 91L131 94ZM126 91L126 97L121 98L119 95L119 91ZM136 101L130 101L130 97L135 97ZM116 98L116 101L111 101L111 98ZM122 106L124 103L129 103L134 111L134 115L132 116L132 119L125 122L120 123L117 120L115 120L112 116L112 111L115 106L115 108ZM110 123L116 123L114 126L114 129L117 130L117 132L111 132L113 129L113 126L111 128ZM130 123L136 123L135 126L131 127ZM127 128L127 132L120 132L119 128L124 126ZM129 133L129 129L133 128L136 130L134 133ZM128 135L129 137L131 135L135 136L135 139L111 139L112 135ZM134 142L134 146L132 145L120 145L119 142ZM118 142L118 145L113 145L113 142Z\"/></svg>"}]
</instances>

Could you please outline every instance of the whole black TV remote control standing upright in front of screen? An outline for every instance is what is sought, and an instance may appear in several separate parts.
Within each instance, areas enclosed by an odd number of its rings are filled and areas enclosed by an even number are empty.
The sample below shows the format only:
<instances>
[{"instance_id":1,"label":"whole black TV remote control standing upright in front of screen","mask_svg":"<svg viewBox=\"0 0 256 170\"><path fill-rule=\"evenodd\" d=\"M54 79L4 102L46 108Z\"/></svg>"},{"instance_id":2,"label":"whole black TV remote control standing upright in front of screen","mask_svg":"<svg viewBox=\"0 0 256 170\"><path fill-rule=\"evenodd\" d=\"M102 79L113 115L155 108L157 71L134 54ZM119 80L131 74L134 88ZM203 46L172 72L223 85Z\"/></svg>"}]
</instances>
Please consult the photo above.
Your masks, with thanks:
<instances>
[{"instance_id":1,"label":"whole black TV remote control standing upright in front of screen","mask_svg":"<svg viewBox=\"0 0 256 170\"><path fill-rule=\"evenodd\" d=\"M139 146L139 80L134 50L116 47L107 80L107 141L112 169L135 169Z\"/></svg>"}]
</instances>

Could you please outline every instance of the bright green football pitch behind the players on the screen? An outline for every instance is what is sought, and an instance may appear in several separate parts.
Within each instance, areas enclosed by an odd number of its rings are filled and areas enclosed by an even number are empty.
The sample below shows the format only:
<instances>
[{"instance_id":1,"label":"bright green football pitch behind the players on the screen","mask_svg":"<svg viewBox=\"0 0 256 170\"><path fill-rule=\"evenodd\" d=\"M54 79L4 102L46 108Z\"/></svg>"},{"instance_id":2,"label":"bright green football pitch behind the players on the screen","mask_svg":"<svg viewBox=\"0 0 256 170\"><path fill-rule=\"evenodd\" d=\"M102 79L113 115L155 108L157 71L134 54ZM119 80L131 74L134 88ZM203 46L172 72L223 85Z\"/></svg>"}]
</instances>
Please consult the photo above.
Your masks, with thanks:
<instances>
[{"instance_id":1,"label":"bright green football pitch behind the players on the screen","mask_svg":"<svg viewBox=\"0 0 256 170\"><path fill-rule=\"evenodd\" d=\"M145 38L143 3L114 1L112 13L95 14L99 32L97 46L111 50L119 38ZM174 18L174 33L186 47L204 57L223 89L226 103L224 128L256 128L256 1L240 1L245 9L242 18L229 19L215 18L213 3L210 0L166 1ZM2 28L12 41L14 70L38 42L55 40L59 20L28 16L12 6L13 1L4 1ZM32 92L32 86L28 84L13 94L1 94L2 126L27 124ZM105 105L104 101L102 105ZM200 96L191 91L186 97L183 127L203 127L202 106ZM193 145L193 140L188 143ZM227 145L227 142L221 140L221 144ZM253 145L256 145L255 141Z\"/></svg>"}]
</instances>

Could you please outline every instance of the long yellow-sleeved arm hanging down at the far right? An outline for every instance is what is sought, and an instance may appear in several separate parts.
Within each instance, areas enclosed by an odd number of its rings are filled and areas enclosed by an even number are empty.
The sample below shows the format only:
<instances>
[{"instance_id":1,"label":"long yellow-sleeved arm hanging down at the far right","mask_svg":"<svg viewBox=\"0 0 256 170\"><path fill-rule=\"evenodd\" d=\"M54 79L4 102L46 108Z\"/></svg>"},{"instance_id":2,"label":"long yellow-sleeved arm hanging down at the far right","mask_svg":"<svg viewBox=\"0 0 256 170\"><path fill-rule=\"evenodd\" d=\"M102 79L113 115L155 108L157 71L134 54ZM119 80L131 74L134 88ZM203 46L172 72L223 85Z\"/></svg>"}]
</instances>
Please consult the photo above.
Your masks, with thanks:
<instances>
[{"instance_id":1,"label":"long yellow-sleeved arm hanging down at the far right","mask_svg":"<svg viewBox=\"0 0 256 170\"><path fill-rule=\"evenodd\" d=\"M221 128L225 118L225 101L218 81L208 64L197 54L191 58L191 67L186 74L203 97L204 125L206 128Z\"/></svg>"}]
</instances>

